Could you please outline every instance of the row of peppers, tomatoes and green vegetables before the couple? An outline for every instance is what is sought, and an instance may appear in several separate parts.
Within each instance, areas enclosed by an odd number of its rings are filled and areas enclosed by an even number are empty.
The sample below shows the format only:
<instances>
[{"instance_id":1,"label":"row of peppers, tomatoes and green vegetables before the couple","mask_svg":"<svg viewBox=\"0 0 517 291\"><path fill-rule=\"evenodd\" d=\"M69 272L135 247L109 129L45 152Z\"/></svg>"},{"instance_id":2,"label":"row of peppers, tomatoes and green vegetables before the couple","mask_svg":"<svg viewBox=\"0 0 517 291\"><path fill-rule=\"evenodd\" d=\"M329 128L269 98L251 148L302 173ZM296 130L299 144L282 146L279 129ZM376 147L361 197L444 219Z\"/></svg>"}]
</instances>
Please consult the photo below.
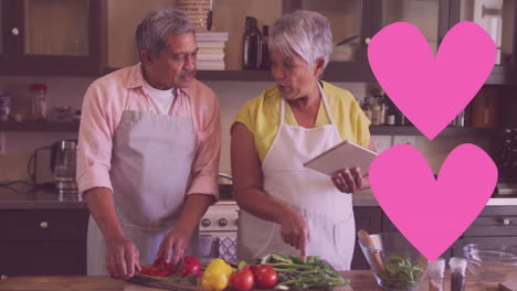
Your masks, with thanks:
<instances>
[{"instance_id":1,"label":"row of peppers, tomatoes and green vegetables before the couple","mask_svg":"<svg viewBox=\"0 0 517 291\"><path fill-rule=\"evenodd\" d=\"M235 291L249 291L253 288L333 290L337 285L349 283L349 280L344 280L339 272L316 256L303 259L278 254L268 254L262 259L233 265L222 259L213 259L202 273L201 265L194 257L186 257L179 272L173 272L170 263L157 259L152 266L143 267L141 274L168 283L190 284L196 284L200 277L205 291L222 291L229 287Z\"/></svg>"}]
</instances>

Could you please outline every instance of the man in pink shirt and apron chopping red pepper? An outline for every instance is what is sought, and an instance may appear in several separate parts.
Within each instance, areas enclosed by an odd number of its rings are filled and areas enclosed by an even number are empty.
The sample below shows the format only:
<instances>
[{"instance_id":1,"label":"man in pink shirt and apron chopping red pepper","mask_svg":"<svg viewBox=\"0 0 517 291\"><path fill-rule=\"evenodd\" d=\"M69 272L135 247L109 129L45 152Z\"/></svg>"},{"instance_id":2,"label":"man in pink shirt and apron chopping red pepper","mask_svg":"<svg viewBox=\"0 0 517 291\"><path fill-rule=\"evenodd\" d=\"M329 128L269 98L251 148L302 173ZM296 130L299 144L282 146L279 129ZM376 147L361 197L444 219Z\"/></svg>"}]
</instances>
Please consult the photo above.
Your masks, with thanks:
<instances>
[{"instance_id":1,"label":"man in pink shirt and apron chopping red pepper","mask_svg":"<svg viewBox=\"0 0 517 291\"><path fill-rule=\"evenodd\" d=\"M157 257L177 263L219 195L219 103L194 78L193 26L180 10L157 10L136 44L140 63L95 80L83 104L77 182L92 214L91 276L126 279Z\"/></svg>"}]
</instances>

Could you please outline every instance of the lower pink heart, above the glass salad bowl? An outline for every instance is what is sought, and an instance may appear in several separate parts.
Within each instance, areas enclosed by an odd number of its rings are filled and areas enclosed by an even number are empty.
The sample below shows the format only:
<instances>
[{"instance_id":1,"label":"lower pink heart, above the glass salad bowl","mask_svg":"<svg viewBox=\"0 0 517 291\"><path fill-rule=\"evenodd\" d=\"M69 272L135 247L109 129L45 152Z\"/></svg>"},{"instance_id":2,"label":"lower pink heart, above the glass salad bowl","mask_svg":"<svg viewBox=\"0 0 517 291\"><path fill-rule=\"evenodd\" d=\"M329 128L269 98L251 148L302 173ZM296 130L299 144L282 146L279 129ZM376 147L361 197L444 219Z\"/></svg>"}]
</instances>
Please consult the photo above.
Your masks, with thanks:
<instances>
[{"instance_id":1,"label":"lower pink heart, above the glass salad bowl","mask_svg":"<svg viewBox=\"0 0 517 291\"><path fill-rule=\"evenodd\" d=\"M424 157L400 144L373 160L370 183L391 222L433 261L486 205L497 183L497 168L482 149L465 143L449 154L435 180Z\"/></svg>"}]
</instances>

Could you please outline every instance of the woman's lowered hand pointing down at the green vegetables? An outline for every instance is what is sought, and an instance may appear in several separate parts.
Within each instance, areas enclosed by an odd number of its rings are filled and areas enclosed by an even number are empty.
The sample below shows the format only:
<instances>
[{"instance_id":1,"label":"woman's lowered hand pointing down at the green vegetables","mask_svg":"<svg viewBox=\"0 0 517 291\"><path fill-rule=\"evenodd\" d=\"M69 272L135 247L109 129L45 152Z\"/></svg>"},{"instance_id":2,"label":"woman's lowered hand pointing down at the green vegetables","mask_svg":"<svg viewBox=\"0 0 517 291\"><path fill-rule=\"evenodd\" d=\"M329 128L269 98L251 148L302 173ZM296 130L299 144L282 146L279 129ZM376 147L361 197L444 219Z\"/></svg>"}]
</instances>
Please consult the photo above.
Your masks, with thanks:
<instances>
[{"instance_id":1,"label":"woman's lowered hand pointing down at the green vegetables","mask_svg":"<svg viewBox=\"0 0 517 291\"><path fill-rule=\"evenodd\" d=\"M300 256L305 257L306 246L310 241L310 233L305 218L295 211L285 213L282 219L281 235L284 241L300 250Z\"/></svg>"}]
</instances>

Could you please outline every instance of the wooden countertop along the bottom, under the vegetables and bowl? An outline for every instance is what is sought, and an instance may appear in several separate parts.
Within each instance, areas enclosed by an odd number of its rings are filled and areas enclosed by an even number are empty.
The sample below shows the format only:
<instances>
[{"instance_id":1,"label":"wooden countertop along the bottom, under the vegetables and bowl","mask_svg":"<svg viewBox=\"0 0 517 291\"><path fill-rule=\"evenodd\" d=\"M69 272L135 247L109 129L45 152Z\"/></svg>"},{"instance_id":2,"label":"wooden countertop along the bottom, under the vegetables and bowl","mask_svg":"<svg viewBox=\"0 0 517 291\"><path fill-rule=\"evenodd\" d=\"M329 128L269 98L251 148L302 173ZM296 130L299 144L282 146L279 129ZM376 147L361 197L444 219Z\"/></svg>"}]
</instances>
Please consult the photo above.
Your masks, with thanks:
<instances>
[{"instance_id":1,"label":"wooden countertop along the bottom, under the vegetables and bowl","mask_svg":"<svg viewBox=\"0 0 517 291\"><path fill-rule=\"evenodd\" d=\"M381 290L377 287L373 274L371 271L344 271L342 277L350 279L350 288L355 291L374 291ZM508 280L511 283L517 284L517 276ZM348 288L348 290L350 290ZM151 288L144 288L129 284L125 281L119 281L108 277L13 277L0 281L1 291L86 291L86 290L98 290L98 291L144 291L144 290L158 290ZM422 291L428 290L426 283L423 284ZM450 290L449 276L445 281L445 290ZM483 282L476 280L473 277L467 278L466 284L467 291L497 291L498 282ZM517 289L515 289L517 290Z\"/></svg>"}]
</instances>

